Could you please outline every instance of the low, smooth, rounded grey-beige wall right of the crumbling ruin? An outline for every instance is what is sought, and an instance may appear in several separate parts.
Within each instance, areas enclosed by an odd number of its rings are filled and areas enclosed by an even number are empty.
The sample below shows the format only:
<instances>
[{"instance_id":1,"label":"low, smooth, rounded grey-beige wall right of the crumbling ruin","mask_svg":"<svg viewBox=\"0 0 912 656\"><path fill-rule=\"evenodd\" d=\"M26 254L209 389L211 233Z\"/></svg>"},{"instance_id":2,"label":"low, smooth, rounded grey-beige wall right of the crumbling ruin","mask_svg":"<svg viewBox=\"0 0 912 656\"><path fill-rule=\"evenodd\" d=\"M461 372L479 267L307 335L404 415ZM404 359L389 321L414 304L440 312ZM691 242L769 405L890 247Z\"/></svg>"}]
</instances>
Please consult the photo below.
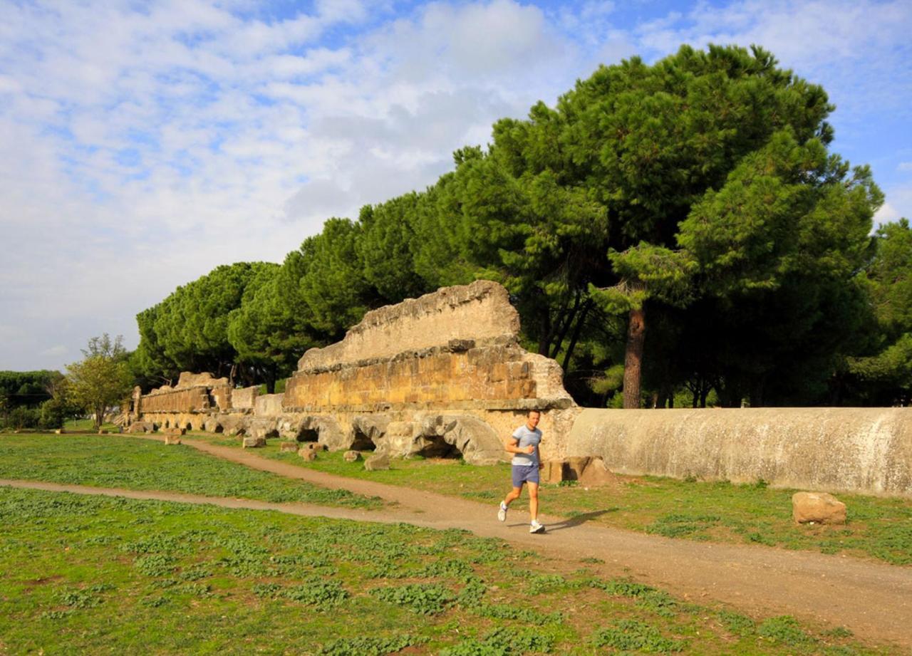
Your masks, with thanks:
<instances>
[{"instance_id":1,"label":"low, smooth, rounded grey-beige wall right of the crumbling ruin","mask_svg":"<svg viewBox=\"0 0 912 656\"><path fill-rule=\"evenodd\" d=\"M566 455L621 474L912 496L912 408L586 408Z\"/></svg>"}]
</instances>

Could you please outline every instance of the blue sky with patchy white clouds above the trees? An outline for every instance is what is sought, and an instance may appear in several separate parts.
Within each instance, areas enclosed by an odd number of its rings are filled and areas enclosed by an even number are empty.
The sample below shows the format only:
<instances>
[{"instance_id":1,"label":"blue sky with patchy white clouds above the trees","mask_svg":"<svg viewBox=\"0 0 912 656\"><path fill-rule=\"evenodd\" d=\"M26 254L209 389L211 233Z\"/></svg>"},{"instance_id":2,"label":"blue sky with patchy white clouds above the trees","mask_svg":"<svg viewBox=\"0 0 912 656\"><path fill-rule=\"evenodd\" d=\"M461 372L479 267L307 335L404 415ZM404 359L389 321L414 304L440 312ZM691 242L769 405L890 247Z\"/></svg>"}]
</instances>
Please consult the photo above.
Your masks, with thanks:
<instances>
[{"instance_id":1,"label":"blue sky with patchy white clouds above the trees","mask_svg":"<svg viewBox=\"0 0 912 656\"><path fill-rule=\"evenodd\" d=\"M423 189L599 63L758 44L822 84L877 220L912 217L912 3L0 0L0 369L330 216Z\"/></svg>"}]
</instances>

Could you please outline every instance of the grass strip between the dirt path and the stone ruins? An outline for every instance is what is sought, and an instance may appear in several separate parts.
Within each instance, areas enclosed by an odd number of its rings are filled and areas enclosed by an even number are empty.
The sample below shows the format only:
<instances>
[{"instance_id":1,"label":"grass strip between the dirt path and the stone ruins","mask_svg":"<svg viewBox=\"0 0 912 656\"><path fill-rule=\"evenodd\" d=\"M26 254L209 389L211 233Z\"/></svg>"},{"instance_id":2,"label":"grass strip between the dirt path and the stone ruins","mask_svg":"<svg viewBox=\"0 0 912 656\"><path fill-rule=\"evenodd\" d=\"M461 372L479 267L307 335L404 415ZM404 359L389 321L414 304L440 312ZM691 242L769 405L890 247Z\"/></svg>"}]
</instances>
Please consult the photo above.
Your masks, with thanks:
<instances>
[{"instance_id":1,"label":"grass strip between the dirt path and the stone ruins","mask_svg":"<svg viewBox=\"0 0 912 656\"><path fill-rule=\"evenodd\" d=\"M198 436L216 444L239 446L238 439ZM492 507L509 489L509 466L467 466L461 460L393 460L389 471L365 471L341 453L321 453L305 462L280 453L278 441L257 454L297 466L346 477L426 489L471 498ZM912 565L912 499L843 495L848 523L841 527L795 526L792 495L762 483L681 481L659 477L617 477L615 485L586 489L544 485L542 512L562 517L586 514L597 524L645 531L668 538L759 543L770 547L844 553ZM513 507L520 510L525 495Z\"/></svg>"}]
</instances>

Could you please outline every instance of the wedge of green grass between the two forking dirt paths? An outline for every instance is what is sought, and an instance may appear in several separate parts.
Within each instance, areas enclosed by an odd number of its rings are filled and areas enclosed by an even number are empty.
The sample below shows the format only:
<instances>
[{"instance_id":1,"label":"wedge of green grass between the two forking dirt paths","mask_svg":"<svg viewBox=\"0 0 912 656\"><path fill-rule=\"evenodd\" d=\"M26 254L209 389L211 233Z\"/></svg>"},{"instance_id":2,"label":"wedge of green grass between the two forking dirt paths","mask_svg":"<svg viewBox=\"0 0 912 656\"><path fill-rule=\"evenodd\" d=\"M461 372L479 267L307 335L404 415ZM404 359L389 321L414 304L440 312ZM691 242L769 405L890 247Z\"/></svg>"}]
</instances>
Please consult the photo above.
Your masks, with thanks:
<instances>
[{"instance_id":1,"label":"wedge of green grass between the two forking dirt paths","mask_svg":"<svg viewBox=\"0 0 912 656\"><path fill-rule=\"evenodd\" d=\"M256 471L190 446L164 446L130 436L0 436L0 478L276 503L300 501L363 508L382 505L378 499Z\"/></svg>"}]
</instances>

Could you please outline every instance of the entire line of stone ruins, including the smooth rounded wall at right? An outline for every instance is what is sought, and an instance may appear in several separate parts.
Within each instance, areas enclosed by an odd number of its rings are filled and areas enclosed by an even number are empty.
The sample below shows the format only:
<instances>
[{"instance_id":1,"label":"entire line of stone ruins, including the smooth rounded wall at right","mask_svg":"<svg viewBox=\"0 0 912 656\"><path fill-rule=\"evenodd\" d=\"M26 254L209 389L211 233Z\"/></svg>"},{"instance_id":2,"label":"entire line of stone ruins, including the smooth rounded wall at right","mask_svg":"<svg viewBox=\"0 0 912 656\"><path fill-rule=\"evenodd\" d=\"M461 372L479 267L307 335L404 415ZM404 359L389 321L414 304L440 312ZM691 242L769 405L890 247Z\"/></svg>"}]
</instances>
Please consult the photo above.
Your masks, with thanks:
<instances>
[{"instance_id":1,"label":"entire line of stone ruins, including the smooth rounded wall at right","mask_svg":"<svg viewBox=\"0 0 912 656\"><path fill-rule=\"evenodd\" d=\"M210 374L137 388L129 430L483 465L506 460L504 439L536 408L552 482L598 485L613 472L912 495L912 408L580 408L560 366L519 345L519 328L499 284L443 288L367 313L341 342L308 351L285 394Z\"/></svg>"}]
</instances>

